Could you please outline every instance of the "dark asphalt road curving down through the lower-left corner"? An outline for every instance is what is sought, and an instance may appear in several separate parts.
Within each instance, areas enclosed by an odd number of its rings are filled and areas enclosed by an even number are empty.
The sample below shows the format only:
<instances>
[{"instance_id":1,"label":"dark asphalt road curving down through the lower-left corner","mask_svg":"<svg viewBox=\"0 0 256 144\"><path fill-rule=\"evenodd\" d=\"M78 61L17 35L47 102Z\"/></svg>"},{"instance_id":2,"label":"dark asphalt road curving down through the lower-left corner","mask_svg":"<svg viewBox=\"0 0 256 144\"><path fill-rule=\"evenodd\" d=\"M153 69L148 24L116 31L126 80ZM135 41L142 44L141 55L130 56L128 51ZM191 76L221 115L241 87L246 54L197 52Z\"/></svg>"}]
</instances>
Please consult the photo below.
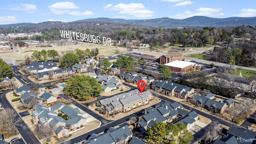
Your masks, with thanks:
<instances>
[{"instance_id":1,"label":"dark asphalt road curving down through the lower-left corner","mask_svg":"<svg viewBox=\"0 0 256 144\"><path fill-rule=\"evenodd\" d=\"M5 95L7 92L10 92L12 90L7 90L0 94L0 103L4 109L11 108L14 110L14 108L11 106L11 104L6 99ZM14 110L16 112L16 110ZM16 112L17 113L17 112ZM20 115L17 113L17 116L20 117ZM20 117L21 119L21 117ZM30 128L25 124L23 120L21 120L20 124L16 126L17 130L20 132L22 138L27 144L40 144L40 141L36 138L36 136L31 132Z\"/></svg>"}]
</instances>

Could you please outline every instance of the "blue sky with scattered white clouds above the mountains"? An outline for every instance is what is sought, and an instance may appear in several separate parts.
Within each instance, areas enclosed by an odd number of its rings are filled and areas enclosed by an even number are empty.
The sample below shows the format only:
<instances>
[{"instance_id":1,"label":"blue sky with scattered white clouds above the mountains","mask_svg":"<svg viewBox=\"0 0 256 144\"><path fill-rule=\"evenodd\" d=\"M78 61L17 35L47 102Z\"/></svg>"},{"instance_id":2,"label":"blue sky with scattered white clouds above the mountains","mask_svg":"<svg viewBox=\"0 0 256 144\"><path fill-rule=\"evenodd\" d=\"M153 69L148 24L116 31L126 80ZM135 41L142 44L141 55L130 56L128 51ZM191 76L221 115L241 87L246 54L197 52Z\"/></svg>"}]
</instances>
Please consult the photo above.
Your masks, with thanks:
<instances>
[{"instance_id":1,"label":"blue sky with scattered white clouds above the mountains","mask_svg":"<svg viewBox=\"0 0 256 144\"><path fill-rule=\"evenodd\" d=\"M0 0L0 24L87 18L255 17L255 0Z\"/></svg>"}]
</instances>

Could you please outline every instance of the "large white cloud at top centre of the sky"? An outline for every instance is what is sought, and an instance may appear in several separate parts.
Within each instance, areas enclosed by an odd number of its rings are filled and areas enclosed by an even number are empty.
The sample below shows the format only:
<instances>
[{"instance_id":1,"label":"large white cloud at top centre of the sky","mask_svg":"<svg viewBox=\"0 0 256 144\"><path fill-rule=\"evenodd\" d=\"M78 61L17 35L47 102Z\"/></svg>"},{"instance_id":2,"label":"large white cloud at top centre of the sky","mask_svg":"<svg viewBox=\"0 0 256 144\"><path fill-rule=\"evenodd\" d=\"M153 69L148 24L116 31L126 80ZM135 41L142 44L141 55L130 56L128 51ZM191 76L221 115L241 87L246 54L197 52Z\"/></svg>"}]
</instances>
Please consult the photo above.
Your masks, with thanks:
<instances>
[{"instance_id":1,"label":"large white cloud at top centre of the sky","mask_svg":"<svg viewBox=\"0 0 256 144\"><path fill-rule=\"evenodd\" d=\"M113 6L112 4L108 4L107 6L104 6L104 8L110 11L117 11L118 14L128 14L137 18L148 18L150 16L154 16L154 12L147 10L145 6L141 3L120 3L115 6Z\"/></svg>"}]
</instances>

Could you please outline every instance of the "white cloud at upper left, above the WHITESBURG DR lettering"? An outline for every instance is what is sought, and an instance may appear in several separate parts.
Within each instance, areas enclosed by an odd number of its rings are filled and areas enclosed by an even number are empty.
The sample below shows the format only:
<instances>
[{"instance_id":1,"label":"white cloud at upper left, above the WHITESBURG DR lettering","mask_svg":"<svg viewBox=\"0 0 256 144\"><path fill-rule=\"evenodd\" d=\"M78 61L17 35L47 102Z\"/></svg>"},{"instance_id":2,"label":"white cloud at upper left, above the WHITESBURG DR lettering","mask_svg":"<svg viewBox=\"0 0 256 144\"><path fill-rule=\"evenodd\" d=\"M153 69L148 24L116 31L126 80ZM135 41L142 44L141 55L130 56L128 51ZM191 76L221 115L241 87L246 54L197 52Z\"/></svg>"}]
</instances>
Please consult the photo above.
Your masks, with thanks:
<instances>
[{"instance_id":1,"label":"white cloud at upper left, above the WHITESBURG DR lettering","mask_svg":"<svg viewBox=\"0 0 256 144\"><path fill-rule=\"evenodd\" d=\"M70 9L78 9L79 7L76 6L73 2L57 2L55 4L52 4L48 6L52 13L54 14L70 14L72 16L90 16L94 15L91 11L71 11Z\"/></svg>"}]
</instances>

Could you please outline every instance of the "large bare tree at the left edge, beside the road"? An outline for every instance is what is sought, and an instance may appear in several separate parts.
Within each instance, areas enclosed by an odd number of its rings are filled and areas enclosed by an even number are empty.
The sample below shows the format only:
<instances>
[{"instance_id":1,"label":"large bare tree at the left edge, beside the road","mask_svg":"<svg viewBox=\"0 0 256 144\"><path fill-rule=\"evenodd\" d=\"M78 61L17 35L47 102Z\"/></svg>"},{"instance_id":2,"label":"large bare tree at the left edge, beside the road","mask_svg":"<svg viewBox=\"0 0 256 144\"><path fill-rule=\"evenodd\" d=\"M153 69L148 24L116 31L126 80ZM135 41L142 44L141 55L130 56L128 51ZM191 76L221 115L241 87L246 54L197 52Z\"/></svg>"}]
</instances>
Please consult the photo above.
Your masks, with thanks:
<instances>
[{"instance_id":1,"label":"large bare tree at the left edge, beside the road","mask_svg":"<svg viewBox=\"0 0 256 144\"><path fill-rule=\"evenodd\" d=\"M3 126L6 126L8 131L12 132L13 128L20 124L20 118L18 117L15 110L11 108L6 108L4 111L2 111L2 114L0 116L0 122Z\"/></svg>"}]
</instances>

